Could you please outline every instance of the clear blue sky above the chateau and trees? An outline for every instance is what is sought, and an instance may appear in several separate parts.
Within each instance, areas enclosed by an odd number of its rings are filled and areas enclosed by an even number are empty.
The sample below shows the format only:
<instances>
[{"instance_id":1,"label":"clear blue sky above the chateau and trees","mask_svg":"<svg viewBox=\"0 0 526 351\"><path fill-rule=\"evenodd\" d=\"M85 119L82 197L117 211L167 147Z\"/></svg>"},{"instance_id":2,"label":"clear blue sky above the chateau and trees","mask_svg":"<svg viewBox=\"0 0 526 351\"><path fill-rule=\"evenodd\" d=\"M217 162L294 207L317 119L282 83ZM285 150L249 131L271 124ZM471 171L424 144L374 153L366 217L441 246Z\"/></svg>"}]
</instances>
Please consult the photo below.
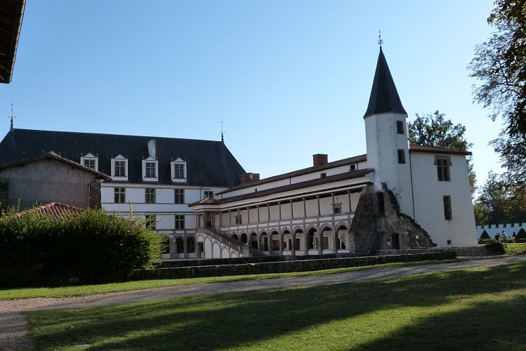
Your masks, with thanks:
<instances>
[{"instance_id":1,"label":"clear blue sky above the chateau and trees","mask_svg":"<svg viewBox=\"0 0 526 351\"><path fill-rule=\"evenodd\" d=\"M383 52L409 121L466 126L478 183L501 124L466 66L493 0L28 0L0 134L15 128L221 139L262 178L365 152ZM0 119L0 120L1 120ZM46 150L47 151L47 150Z\"/></svg>"}]
</instances>

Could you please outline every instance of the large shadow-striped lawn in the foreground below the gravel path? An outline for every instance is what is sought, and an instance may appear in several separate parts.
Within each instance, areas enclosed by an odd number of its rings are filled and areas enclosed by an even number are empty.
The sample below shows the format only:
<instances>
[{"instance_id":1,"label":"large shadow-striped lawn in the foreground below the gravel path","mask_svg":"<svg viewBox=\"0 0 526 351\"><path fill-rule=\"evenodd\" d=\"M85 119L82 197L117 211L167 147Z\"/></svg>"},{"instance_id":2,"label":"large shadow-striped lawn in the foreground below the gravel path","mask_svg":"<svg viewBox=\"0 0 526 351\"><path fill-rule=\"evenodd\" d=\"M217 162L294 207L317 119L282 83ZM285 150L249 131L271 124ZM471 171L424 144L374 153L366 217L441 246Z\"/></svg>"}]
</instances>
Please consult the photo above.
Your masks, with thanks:
<instances>
[{"instance_id":1,"label":"large shadow-striped lawn in the foreground below the gravel path","mask_svg":"<svg viewBox=\"0 0 526 351\"><path fill-rule=\"evenodd\" d=\"M39 350L524 350L526 263L25 312Z\"/></svg>"}]
</instances>

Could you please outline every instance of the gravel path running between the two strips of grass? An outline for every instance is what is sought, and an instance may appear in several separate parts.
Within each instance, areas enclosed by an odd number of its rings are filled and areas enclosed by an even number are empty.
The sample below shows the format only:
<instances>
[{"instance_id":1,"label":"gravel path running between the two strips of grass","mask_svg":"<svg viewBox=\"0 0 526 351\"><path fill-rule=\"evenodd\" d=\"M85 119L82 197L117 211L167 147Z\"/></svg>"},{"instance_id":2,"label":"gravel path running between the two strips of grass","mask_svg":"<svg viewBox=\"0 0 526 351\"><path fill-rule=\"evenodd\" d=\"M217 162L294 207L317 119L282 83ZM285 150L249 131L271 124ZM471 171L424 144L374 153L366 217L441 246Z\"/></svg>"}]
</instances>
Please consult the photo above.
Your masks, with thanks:
<instances>
[{"instance_id":1,"label":"gravel path running between the two strips of grass","mask_svg":"<svg viewBox=\"0 0 526 351\"><path fill-rule=\"evenodd\" d=\"M363 282L366 280L395 279L414 274L462 270L471 267L489 267L523 261L526 261L526 256L497 256L480 259L459 259L452 263L386 267L310 277L170 286L157 289L125 291L121 293L103 293L100 295L78 296L72 298L30 298L23 300L0 301L0 350L30 350L33 348L34 345L32 344L32 341L26 337L27 324L25 317L20 314L21 311L107 306L122 303L162 300L166 298L204 293L254 291L287 288L291 286L315 286Z\"/></svg>"}]
</instances>

